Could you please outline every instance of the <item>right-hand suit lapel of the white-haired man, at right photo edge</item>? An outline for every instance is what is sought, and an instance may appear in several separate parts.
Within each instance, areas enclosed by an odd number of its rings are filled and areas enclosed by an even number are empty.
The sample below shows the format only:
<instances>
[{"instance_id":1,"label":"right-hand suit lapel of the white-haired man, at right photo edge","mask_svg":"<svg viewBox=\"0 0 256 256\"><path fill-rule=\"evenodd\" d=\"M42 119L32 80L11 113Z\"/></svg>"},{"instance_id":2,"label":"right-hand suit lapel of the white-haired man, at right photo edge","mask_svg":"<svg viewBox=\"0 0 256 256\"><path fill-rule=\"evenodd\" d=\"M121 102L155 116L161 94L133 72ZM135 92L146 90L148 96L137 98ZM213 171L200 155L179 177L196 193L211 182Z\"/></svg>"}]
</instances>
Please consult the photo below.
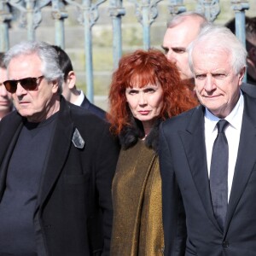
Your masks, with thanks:
<instances>
[{"instance_id":1,"label":"right-hand suit lapel of the white-haired man, at right photo edge","mask_svg":"<svg viewBox=\"0 0 256 256\"><path fill-rule=\"evenodd\" d=\"M253 172L256 152L256 102L252 98L244 96L244 113L241 125L240 143L236 158L236 168L230 193L230 201L227 212L225 231L236 210L236 206L245 190L248 179Z\"/></svg>"}]
</instances>

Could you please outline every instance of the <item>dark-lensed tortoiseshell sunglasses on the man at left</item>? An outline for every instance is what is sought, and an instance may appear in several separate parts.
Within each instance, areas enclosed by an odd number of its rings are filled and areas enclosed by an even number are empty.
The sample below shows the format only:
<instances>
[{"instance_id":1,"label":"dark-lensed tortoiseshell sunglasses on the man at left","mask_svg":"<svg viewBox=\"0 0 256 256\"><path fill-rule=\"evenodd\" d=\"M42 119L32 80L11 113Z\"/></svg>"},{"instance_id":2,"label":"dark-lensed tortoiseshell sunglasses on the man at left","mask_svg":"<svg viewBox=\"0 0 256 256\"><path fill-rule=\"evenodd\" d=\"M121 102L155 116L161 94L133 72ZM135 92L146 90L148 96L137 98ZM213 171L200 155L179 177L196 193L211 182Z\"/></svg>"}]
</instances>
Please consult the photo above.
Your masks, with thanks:
<instances>
[{"instance_id":1,"label":"dark-lensed tortoiseshell sunglasses on the man at left","mask_svg":"<svg viewBox=\"0 0 256 256\"><path fill-rule=\"evenodd\" d=\"M26 78L20 80L7 80L3 84L7 91L15 93L17 85L20 84L25 90L35 90L38 87L38 79L42 79L44 76L38 78Z\"/></svg>"}]
</instances>

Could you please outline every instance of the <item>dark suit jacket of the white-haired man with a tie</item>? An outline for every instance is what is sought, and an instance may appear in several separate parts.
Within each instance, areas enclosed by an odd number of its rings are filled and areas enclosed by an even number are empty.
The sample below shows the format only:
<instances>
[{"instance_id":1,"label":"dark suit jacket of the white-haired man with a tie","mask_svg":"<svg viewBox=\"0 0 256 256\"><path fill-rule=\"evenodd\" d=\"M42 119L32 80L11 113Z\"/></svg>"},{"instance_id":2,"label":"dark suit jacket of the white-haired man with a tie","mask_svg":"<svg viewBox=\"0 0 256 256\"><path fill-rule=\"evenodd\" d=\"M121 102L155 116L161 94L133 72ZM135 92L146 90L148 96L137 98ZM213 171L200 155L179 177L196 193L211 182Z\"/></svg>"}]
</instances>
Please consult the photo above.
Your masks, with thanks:
<instances>
[{"instance_id":1,"label":"dark suit jacket of the white-haired man with a tie","mask_svg":"<svg viewBox=\"0 0 256 256\"><path fill-rule=\"evenodd\" d=\"M256 100L244 94L236 169L224 231L213 216L204 137L205 108L160 127L165 255L256 255Z\"/></svg>"}]
</instances>

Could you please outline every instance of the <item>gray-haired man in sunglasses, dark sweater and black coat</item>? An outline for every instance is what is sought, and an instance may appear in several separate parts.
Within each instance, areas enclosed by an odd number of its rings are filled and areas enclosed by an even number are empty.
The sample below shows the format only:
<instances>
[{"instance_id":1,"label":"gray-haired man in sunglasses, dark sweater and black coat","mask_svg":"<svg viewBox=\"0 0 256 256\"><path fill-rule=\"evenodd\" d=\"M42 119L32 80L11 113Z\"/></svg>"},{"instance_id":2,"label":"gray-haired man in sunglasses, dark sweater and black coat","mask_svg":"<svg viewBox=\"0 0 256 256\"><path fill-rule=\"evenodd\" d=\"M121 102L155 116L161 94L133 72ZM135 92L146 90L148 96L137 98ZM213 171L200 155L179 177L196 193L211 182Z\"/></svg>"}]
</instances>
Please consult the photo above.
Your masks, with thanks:
<instances>
[{"instance_id":1,"label":"gray-haired man in sunglasses, dark sweater and black coat","mask_svg":"<svg viewBox=\"0 0 256 256\"><path fill-rule=\"evenodd\" d=\"M0 255L108 255L119 146L108 123L61 96L55 49L5 56L16 111L0 123Z\"/></svg>"}]
</instances>

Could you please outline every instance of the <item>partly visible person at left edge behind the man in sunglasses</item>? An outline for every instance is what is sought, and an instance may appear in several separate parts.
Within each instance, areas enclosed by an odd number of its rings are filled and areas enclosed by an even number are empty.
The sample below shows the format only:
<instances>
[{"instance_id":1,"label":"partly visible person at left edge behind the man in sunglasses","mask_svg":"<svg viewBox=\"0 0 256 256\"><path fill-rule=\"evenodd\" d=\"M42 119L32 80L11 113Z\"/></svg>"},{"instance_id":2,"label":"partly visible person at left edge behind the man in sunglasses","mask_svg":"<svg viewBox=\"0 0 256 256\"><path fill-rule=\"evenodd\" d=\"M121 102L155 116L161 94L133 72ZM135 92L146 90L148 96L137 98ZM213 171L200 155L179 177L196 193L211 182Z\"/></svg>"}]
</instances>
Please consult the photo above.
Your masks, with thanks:
<instances>
[{"instance_id":1,"label":"partly visible person at left edge behind the man in sunglasses","mask_svg":"<svg viewBox=\"0 0 256 256\"><path fill-rule=\"evenodd\" d=\"M11 94L5 89L3 82L7 80L7 70L3 63L4 53L0 53L0 120L13 110Z\"/></svg>"}]
</instances>

